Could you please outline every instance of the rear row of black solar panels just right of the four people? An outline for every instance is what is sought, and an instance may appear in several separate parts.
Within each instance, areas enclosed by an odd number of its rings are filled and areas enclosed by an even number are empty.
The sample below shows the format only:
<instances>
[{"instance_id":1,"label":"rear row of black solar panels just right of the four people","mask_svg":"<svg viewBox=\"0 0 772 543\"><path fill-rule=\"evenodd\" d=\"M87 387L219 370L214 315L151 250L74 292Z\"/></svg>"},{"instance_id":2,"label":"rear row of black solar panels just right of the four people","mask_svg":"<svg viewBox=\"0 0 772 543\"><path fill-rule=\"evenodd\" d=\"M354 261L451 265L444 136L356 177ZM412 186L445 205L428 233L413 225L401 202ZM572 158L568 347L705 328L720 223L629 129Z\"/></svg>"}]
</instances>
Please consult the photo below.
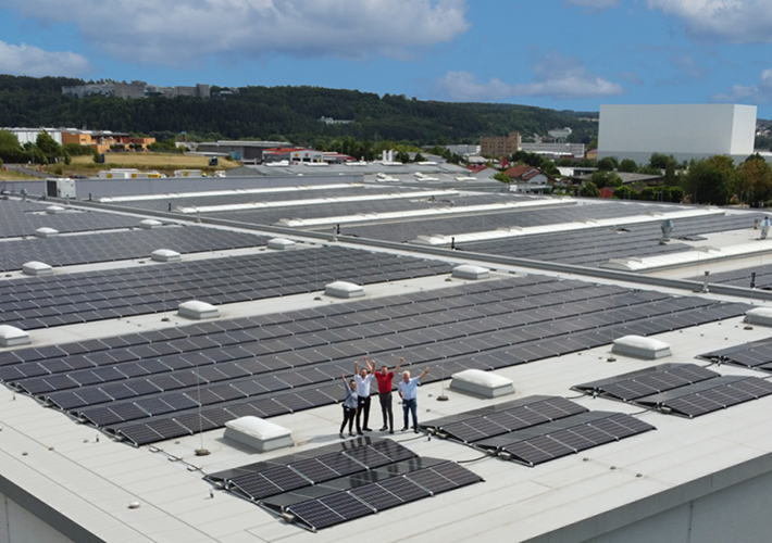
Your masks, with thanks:
<instances>
[{"instance_id":1,"label":"rear row of black solar panels just right of the four people","mask_svg":"<svg viewBox=\"0 0 772 543\"><path fill-rule=\"evenodd\" d=\"M474 443L514 430L558 420L587 408L559 396L530 396L483 407L452 417L435 419L422 424L426 430L439 435Z\"/></svg>"}]
</instances>

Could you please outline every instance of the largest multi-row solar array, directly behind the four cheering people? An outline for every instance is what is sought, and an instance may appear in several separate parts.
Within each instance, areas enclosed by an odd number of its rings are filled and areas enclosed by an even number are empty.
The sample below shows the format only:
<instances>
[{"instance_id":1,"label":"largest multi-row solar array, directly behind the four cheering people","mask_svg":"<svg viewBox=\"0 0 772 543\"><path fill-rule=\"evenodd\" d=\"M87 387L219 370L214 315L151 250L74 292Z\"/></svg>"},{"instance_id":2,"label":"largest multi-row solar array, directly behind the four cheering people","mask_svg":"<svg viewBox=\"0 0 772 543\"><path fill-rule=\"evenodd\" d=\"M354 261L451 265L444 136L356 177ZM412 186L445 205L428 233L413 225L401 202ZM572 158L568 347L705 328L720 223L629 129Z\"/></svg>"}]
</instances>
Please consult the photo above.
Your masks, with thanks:
<instances>
[{"instance_id":1,"label":"largest multi-row solar array, directly behind the four cheering people","mask_svg":"<svg viewBox=\"0 0 772 543\"><path fill-rule=\"evenodd\" d=\"M742 315L744 304L544 276L0 353L0 379L141 445L343 396L362 355L424 381Z\"/></svg>"}]
</instances>

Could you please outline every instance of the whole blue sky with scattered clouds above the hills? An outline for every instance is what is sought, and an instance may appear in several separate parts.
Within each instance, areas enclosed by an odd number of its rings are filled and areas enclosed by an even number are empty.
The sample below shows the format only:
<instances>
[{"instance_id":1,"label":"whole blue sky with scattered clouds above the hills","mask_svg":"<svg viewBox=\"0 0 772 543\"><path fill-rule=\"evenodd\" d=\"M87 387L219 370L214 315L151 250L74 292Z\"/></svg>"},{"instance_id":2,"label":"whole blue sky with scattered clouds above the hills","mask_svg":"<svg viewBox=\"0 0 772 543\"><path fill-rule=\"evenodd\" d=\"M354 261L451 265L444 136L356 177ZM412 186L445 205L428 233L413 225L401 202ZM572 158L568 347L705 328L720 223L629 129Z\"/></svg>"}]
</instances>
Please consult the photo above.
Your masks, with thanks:
<instances>
[{"instance_id":1,"label":"whole blue sky with scattered clouds above the hills","mask_svg":"<svg viewBox=\"0 0 772 543\"><path fill-rule=\"evenodd\" d=\"M0 0L0 73L772 118L770 0Z\"/></svg>"}]
</instances>

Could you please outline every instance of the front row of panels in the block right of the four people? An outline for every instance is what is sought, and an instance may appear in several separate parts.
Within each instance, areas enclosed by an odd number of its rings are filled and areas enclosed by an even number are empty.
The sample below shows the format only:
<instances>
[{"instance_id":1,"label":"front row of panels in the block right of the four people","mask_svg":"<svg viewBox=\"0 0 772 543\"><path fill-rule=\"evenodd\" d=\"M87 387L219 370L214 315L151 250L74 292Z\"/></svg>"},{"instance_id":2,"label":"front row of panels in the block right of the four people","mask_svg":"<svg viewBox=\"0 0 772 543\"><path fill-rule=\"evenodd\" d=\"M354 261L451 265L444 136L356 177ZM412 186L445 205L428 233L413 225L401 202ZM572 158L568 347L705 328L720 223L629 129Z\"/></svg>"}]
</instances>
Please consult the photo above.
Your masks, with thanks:
<instances>
[{"instance_id":1,"label":"front row of panels in the block right of the four people","mask_svg":"<svg viewBox=\"0 0 772 543\"><path fill-rule=\"evenodd\" d=\"M483 440L475 445L508 453L511 460L533 467L653 429L648 422L623 413L592 412Z\"/></svg>"}]
</instances>

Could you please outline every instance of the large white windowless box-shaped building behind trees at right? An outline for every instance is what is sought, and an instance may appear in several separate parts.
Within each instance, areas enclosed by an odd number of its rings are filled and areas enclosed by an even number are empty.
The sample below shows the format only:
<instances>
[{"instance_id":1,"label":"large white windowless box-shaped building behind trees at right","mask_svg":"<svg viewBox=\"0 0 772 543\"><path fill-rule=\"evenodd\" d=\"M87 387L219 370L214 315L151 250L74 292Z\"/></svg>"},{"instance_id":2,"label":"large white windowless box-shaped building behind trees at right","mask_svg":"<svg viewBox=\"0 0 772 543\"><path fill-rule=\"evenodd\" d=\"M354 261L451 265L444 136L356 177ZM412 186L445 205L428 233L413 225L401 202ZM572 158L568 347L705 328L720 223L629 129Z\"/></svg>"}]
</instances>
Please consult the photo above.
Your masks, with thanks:
<instances>
[{"instance_id":1,"label":"large white windowless box-shaped building behind trees at right","mask_svg":"<svg viewBox=\"0 0 772 543\"><path fill-rule=\"evenodd\" d=\"M754 152L756 106L737 104L601 105L598 157L645 163L651 153L689 160Z\"/></svg>"}]
</instances>

